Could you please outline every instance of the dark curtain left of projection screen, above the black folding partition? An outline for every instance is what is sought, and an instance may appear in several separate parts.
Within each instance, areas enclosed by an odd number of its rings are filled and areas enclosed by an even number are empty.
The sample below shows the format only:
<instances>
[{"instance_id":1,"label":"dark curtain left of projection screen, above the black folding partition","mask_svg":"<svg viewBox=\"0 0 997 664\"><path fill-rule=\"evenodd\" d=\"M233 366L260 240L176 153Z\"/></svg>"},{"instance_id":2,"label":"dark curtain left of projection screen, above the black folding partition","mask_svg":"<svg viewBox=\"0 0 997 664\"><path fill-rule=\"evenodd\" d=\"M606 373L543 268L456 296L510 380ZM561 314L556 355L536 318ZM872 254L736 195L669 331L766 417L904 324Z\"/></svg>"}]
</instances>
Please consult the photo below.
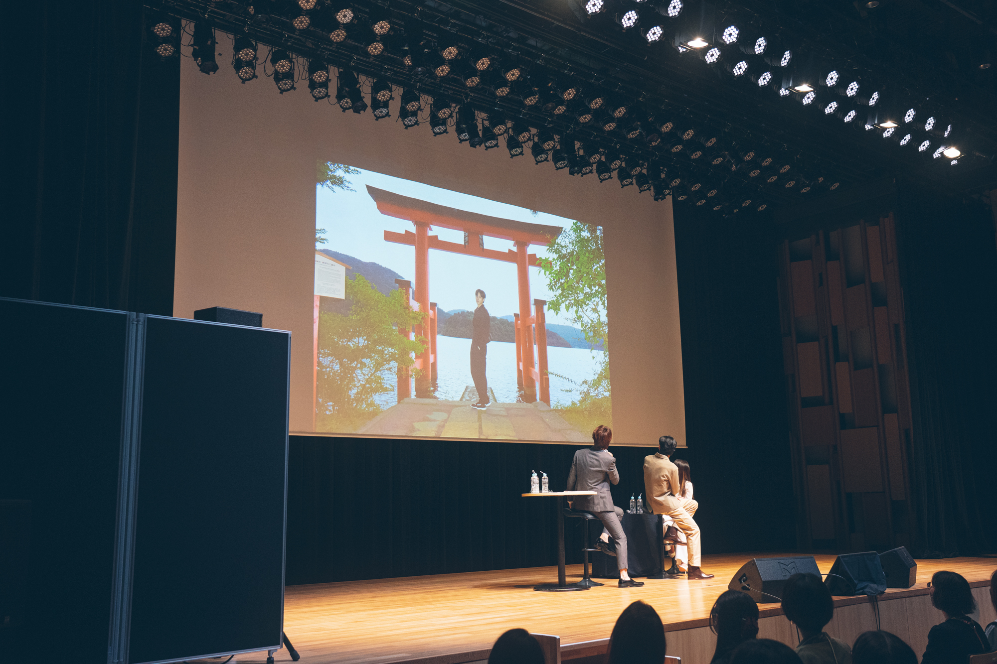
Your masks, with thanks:
<instances>
[{"instance_id":1,"label":"dark curtain left of projection screen, above the black folding partition","mask_svg":"<svg viewBox=\"0 0 997 664\"><path fill-rule=\"evenodd\" d=\"M141 2L5 9L0 295L171 315L179 58Z\"/></svg>"}]
</instances>

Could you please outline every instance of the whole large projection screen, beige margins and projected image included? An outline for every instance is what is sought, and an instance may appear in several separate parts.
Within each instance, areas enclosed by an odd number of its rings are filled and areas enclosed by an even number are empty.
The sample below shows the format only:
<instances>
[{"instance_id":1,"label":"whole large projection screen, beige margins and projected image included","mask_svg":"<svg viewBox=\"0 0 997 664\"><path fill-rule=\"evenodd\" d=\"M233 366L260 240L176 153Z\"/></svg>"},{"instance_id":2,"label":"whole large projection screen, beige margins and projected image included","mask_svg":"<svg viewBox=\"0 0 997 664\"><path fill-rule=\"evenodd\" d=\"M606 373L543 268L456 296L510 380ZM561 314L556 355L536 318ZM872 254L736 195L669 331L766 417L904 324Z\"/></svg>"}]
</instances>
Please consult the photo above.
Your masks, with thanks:
<instances>
[{"instance_id":1,"label":"whole large projection screen, beige margins and projected image included","mask_svg":"<svg viewBox=\"0 0 997 664\"><path fill-rule=\"evenodd\" d=\"M291 433L685 446L670 199L182 64L173 315L289 330Z\"/></svg>"}]
</instances>

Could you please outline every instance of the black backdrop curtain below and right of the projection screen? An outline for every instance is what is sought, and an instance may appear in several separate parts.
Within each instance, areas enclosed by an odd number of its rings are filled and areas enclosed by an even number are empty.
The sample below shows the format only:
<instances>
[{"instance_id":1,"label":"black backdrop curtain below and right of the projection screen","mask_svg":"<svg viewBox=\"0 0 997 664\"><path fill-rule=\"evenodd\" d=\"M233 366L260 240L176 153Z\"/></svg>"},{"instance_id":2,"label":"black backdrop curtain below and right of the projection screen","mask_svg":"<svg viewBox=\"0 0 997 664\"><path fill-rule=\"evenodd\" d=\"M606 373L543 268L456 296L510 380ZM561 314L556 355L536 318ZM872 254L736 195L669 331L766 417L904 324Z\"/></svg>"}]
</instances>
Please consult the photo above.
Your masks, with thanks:
<instances>
[{"instance_id":1,"label":"black backdrop curtain below and right of the projection screen","mask_svg":"<svg viewBox=\"0 0 997 664\"><path fill-rule=\"evenodd\" d=\"M689 461L704 552L796 547L774 243L755 226L676 213ZM661 432L666 434L667 432ZM627 508L647 448L612 447ZM553 565L554 498L581 446L292 436L289 585ZM764 506L764 509L763 509ZM567 560L581 529L565 523Z\"/></svg>"}]
</instances>

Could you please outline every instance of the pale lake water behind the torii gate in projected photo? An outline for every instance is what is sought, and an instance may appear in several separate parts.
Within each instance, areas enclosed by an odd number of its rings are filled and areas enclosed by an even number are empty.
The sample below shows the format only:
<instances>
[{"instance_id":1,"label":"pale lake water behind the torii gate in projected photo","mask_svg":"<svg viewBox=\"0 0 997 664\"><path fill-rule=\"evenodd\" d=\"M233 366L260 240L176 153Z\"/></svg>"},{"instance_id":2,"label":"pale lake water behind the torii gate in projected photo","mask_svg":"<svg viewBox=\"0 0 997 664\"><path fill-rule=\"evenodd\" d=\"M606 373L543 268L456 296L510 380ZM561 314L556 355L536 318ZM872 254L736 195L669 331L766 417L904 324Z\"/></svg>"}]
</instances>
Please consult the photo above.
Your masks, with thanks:
<instances>
[{"instance_id":1,"label":"pale lake water behind the torii gate in projected photo","mask_svg":"<svg viewBox=\"0 0 997 664\"><path fill-rule=\"evenodd\" d=\"M547 347L547 369L580 383L595 376L604 351L583 348ZM471 339L437 336L437 398L456 401L464 388L474 387L471 380ZM535 356L535 348L534 348ZM495 391L500 403L516 400L515 344L510 341L493 341L489 344L486 375L489 387ZM572 394L571 390L575 393ZM551 405L567 406L578 399L577 387L557 376L550 376ZM389 408L398 403L394 391L378 396L378 404Z\"/></svg>"}]
</instances>

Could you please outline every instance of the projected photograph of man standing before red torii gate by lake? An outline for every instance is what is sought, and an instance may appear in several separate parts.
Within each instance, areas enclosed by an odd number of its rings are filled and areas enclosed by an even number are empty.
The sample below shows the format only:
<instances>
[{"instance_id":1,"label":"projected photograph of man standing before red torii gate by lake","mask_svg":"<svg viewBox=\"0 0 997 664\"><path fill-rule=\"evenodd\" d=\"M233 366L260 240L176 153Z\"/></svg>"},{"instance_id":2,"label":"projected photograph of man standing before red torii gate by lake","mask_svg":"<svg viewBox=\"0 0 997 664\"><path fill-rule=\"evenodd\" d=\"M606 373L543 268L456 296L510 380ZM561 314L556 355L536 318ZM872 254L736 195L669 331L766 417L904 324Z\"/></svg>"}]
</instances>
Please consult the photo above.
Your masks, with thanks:
<instances>
[{"instance_id":1,"label":"projected photograph of man standing before red torii gate by lake","mask_svg":"<svg viewBox=\"0 0 997 664\"><path fill-rule=\"evenodd\" d=\"M321 162L315 216L315 431L611 426L600 226Z\"/></svg>"}]
</instances>

